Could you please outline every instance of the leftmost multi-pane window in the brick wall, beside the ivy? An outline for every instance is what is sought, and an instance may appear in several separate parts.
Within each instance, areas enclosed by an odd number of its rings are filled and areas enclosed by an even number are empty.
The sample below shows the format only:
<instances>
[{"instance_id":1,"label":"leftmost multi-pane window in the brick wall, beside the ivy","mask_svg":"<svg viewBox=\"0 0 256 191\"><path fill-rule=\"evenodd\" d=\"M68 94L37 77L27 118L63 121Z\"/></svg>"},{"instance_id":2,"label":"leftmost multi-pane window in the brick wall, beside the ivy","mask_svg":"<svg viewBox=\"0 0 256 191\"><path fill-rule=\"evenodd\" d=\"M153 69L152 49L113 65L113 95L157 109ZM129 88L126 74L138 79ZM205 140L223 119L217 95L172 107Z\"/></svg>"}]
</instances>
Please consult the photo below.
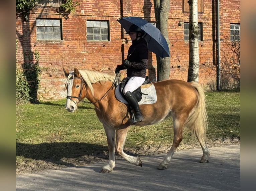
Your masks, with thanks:
<instances>
[{"instance_id":1,"label":"leftmost multi-pane window in the brick wall, beside the ivy","mask_svg":"<svg viewBox=\"0 0 256 191\"><path fill-rule=\"evenodd\" d=\"M37 40L62 40L60 19L36 19Z\"/></svg>"}]
</instances>

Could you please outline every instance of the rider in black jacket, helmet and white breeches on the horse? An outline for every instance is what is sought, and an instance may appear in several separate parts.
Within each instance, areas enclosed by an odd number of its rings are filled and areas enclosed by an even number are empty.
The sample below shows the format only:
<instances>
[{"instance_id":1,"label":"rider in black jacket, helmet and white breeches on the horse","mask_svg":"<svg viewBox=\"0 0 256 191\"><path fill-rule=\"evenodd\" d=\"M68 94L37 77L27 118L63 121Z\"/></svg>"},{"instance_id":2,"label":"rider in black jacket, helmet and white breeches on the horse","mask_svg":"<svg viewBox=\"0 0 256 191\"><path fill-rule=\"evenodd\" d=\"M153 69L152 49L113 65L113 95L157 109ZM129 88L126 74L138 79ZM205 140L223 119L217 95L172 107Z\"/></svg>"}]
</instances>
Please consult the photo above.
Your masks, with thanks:
<instances>
[{"instance_id":1,"label":"rider in black jacket, helmet and white breeches on the horse","mask_svg":"<svg viewBox=\"0 0 256 191\"><path fill-rule=\"evenodd\" d=\"M129 47L127 58L122 65L116 67L115 73L126 69L126 74L129 80L124 87L123 93L126 96L131 107L135 110L135 121L144 121L144 116L141 113L137 99L132 95L132 92L139 88L146 78L146 67L148 64L148 48L147 42L143 38L145 32L136 25L131 25L128 34L132 40L132 45Z\"/></svg>"}]
</instances>

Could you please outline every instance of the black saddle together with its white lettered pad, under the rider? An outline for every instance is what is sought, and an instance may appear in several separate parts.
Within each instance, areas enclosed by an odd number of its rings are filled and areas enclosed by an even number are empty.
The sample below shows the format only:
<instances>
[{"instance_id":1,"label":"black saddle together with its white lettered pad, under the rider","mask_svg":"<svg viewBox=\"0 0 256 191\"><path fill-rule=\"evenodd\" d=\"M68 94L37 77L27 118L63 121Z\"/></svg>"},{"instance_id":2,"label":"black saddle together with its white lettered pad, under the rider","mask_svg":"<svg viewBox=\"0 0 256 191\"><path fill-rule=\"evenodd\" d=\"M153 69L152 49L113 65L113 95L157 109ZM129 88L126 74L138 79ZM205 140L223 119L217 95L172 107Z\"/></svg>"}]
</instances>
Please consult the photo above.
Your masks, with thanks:
<instances>
[{"instance_id":1,"label":"black saddle together with its white lettered pad, under the rider","mask_svg":"<svg viewBox=\"0 0 256 191\"><path fill-rule=\"evenodd\" d=\"M115 90L116 98L123 103L128 103L123 94L123 89L127 82L128 79L123 78ZM132 94L137 99L139 105L155 103L157 100L155 86L149 81L148 76L146 76L144 83L137 90L133 91Z\"/></svg>"}]
</instances>

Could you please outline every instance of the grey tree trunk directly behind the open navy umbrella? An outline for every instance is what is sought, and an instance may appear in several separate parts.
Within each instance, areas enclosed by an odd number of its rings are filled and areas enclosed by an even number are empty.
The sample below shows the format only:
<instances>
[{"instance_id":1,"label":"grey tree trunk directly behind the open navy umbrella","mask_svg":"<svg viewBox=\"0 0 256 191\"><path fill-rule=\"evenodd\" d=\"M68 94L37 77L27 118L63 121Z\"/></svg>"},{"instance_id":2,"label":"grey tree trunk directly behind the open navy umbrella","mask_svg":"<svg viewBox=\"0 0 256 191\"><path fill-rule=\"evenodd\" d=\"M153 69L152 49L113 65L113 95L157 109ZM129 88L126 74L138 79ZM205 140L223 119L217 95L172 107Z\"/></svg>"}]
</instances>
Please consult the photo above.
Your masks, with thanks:
<instances>
[{"instance_id":1,"label":"grey tree trunk directly behind the open navy umbrella","mask_svg":"<svg viewBox=\"0 0 256 191\"><path fill-rule=\"evenodd\" d=\"M156 27L161 31L166 39L170 49L168 37L168 15L170 10L169 0L154 0ZM157 81L167 80L170 78L170 57L156 57L157 62Z\"/></svg>"}]
</instances>

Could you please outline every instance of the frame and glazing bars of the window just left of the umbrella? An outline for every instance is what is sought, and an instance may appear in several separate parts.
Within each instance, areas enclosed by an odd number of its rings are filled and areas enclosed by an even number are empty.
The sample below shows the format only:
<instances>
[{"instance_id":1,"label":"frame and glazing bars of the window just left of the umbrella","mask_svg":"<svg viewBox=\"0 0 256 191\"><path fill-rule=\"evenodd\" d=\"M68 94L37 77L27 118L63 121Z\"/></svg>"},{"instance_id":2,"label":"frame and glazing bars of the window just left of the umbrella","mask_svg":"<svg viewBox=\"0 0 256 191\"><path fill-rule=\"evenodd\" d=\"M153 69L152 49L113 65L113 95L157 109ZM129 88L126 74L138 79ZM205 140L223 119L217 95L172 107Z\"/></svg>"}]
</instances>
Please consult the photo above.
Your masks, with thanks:
<instances>
[{"instance_id":1,"label":"frame and glazing bars of the window just left of the umbrella","mask_svg":"<svg viewBox=\"0 0 256 191\"><path fill-rule=\"evenodd\" d=\"M98 24L100 24L100 25L97 26ZM107 33L102 33L105 30L107 30ZM86 31L87 31L86 39L89 42L103 42L103 41L108 42L108 41L110 41L110 25L109 25L108 20L87 20L86 21ZM91 37L89 39L89 36L91 36L92 39L91 39ZM99 39L95 38L97 36L100 38ZM107 40L105 40L105 39L102 40L103 36L106 36Z\"/></svg>"}]
</instances>

